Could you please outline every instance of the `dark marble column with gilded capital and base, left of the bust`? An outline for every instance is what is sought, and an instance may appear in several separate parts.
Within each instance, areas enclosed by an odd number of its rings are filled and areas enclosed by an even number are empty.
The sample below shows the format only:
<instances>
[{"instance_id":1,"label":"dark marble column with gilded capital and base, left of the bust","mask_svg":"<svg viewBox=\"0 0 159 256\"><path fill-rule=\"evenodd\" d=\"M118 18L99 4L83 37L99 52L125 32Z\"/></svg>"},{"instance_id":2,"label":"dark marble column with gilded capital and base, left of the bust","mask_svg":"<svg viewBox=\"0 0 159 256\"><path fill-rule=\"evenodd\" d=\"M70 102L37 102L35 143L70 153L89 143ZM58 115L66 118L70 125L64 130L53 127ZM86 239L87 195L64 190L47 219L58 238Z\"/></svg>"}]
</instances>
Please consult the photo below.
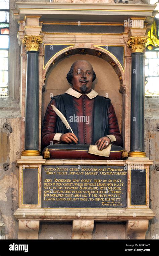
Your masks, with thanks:
<instances>
[{"instance_id":1,"label":"dark marble column with gilded capital and base, left of the bust","mask_svg":"<svg viewBox=\"0 0 159 256\"><path fill-rule=\"evenodd\" d=\"M27 50L25 95L25 148L22 156L40 156L39 151L39 47L42 36L24 36Z\"/></svg>"}]
</instances>

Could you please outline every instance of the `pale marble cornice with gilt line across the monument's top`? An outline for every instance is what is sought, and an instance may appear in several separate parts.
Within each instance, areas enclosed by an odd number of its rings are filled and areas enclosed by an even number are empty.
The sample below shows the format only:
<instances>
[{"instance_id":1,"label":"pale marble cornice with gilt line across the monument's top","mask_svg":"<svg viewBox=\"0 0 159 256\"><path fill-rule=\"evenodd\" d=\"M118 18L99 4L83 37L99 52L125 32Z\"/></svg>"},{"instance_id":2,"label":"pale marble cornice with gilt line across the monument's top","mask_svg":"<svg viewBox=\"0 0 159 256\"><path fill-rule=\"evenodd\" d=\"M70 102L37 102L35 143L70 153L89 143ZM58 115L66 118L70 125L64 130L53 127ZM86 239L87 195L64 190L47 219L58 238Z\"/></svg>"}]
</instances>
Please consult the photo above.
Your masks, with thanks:
<instances>
[{"instance_id":1,"label":"pale marble cornice with gilt line across the monument's top","mask_svg":"<svg viewBox=\"0 0 159 256\"><path fill-rule=\"evenodd\" d=\"M100 4L100 3L38 3L38 2L16 2L12 8L14 19L24 20L25 15L41 15L41 20L52 18L68 20L68 15L73 15L73 19L112 21L114 15L117 16L116 22L123 22L128 17L146 17L145 22L150 25L157 11L156 5L149 4Z\"/></svg>"}]
</instances>

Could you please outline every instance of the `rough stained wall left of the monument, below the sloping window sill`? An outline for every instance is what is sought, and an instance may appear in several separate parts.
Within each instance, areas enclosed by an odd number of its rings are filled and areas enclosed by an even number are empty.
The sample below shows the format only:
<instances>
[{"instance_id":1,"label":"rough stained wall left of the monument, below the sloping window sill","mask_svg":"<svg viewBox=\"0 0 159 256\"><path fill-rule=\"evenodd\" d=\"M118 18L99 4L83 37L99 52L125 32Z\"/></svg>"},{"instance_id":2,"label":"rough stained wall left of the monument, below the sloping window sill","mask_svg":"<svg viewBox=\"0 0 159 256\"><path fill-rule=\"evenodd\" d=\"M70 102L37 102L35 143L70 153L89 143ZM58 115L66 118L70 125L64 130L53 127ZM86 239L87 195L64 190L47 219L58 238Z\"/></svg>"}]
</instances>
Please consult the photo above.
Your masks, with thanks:
<instances>
[{"instance_id":1,"label":"rough stained wall left of the monument, below the sloping window sill","mask_svg":"<svg viewBox=\"0 0 159 256\"><path fill-rule=\"evenodd\" d=\"M9 129L4 129L7 125ZM20 118L0 118L0 133L0 222L5 225L1 235L17 239L18 223L13 213L18 208L16 159L20 154Z\"/></svg>"}]
</instances>

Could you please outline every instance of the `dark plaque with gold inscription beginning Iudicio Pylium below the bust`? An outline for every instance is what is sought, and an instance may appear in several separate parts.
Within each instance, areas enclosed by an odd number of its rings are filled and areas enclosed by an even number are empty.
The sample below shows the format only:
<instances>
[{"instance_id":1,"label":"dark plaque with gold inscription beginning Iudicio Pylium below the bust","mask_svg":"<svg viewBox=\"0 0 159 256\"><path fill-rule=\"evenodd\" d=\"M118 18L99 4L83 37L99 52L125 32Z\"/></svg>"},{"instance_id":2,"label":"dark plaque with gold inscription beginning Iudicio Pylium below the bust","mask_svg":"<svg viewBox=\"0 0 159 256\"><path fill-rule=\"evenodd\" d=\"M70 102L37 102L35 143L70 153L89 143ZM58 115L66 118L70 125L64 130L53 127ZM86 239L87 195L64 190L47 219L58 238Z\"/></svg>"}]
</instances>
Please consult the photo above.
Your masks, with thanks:
<instances>
[{"instance_id":1,"label":"dark plaque with gold inscription beginning Iudicio Pylium below the bust","mask_svg":"<svg viewBox=\"0 0 159 256\"><path fill-rule=\"evenodd\" d=\"M42 166L42 207L126 208L126 191L124 166Z\"/></svg>"}]
</instances>

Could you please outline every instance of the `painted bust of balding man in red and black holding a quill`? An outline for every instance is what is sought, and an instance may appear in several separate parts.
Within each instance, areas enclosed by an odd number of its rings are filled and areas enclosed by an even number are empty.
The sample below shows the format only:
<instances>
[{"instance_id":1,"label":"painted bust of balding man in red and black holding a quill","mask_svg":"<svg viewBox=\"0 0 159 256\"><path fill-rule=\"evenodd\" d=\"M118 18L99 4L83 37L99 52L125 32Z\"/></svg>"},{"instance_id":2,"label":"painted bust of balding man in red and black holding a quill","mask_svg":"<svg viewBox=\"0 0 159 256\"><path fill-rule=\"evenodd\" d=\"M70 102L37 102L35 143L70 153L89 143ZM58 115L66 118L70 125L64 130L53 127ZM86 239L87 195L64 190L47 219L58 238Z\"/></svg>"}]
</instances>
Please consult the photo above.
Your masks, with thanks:
<instances>
[{"instance_id":1,"label":"painted bust of balding man in red and black holding a quill","mask_svg":"<svg viewBox=\"0 0 159 256\"><path fill-rule=\"evenodd\" d=\"M105 149L110 143L122 146L118 121L109 98L99 96L92 88L96 74L85 60L74 62L67 73L71 84L64 94L52 98L43 121L42 149L50 144L97 145ZM67 130L54 105L66 117L71 130ZM83 118L81 118L83 117Z\"/></svg>"}]
</instances>

